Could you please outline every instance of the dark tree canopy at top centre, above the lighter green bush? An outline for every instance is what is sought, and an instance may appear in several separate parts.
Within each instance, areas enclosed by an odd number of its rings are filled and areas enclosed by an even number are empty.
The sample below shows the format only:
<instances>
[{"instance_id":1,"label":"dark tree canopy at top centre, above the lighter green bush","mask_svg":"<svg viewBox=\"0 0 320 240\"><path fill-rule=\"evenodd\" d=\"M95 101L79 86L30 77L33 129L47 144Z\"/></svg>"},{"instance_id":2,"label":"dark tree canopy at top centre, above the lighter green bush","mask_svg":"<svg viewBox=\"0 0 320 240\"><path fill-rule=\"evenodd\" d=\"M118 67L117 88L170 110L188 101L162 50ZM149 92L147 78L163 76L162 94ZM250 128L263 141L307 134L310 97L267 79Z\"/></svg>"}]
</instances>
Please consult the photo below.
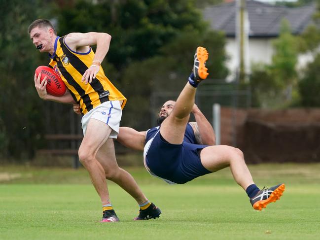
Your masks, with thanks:
<instances>
[{"instance_id":1,"label":"dark tree canopy at top centre, above the lighter green bush","mask_svg":"<svg viewBox=\"0 0 320 240\"><path fill-rule=\"evenodd\" d=\"M121 70L136 60L159 54L160 48L180 33L207 27L194 0L78 0L63 7L58 33L106 32L112 42L109 63Z\"/></svg>"}]
</instances>

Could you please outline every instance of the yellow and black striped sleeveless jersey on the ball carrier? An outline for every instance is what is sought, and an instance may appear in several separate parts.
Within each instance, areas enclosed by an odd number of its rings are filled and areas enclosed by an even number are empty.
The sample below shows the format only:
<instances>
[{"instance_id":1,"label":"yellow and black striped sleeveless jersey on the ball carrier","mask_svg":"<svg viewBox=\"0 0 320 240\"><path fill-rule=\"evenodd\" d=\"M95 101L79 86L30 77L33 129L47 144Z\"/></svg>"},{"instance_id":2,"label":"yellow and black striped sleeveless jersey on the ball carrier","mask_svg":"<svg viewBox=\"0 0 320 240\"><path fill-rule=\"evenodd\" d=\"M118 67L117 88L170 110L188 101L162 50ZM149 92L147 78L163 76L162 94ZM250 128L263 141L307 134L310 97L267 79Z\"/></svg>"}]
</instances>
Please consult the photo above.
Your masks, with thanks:
<instances>
[{"instance_id":1,"label":"yellow and black striped sleeveless jersey on the ball carrier","mask_svg":"<svg viewBox=\"0 0 320 240\"><path fill-rule=\"evenodd\" d=\"M92 65L95 53L91 47L87 53L72 51L65 43L65 37L57 36L49 67L59 72L73 99L80 104L82 114L107 101L123 101L123 108L127 99L109 81L102 67L91 83L81 82L82 75Z\"/></svg>"}]
</instances>

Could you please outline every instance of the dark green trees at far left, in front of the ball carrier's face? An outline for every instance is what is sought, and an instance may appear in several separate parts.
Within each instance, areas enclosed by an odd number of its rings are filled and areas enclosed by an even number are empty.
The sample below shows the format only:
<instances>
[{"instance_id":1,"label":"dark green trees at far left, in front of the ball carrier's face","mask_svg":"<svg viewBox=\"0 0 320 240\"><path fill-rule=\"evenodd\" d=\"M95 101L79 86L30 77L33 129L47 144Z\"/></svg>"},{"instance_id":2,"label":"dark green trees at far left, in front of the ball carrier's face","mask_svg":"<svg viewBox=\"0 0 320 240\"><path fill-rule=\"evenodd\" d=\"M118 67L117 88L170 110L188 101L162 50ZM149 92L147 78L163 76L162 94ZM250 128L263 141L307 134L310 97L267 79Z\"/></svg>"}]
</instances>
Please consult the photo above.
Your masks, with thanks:
<instances>
[{"instance_id":1,"label":"dark green trees at far left, in front of the ball carrier's face","mask_svg":"<svg viewBox=\"0 0 320 240\"><path fill-rule=\"evenodd\" d=\"M0 155L6 158L31 158L40 141L43 104L33 81L40 57L27 29L46 13L47 3L0 1Z\"/></svg>"}]
</instances>

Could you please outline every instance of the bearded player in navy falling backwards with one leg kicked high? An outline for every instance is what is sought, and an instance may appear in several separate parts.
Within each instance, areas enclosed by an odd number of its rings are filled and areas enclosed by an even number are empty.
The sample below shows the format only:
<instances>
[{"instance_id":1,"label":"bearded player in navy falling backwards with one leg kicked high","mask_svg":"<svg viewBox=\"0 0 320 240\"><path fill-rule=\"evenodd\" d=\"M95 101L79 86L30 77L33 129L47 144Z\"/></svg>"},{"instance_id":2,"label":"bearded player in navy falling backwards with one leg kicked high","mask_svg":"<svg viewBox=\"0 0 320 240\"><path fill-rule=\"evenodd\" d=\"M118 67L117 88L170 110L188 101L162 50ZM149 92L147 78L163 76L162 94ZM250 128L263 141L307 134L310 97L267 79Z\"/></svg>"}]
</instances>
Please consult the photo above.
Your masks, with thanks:
<instances>
[{"instance_id":1,"label":"bearded player in navy falling backwards with one leg kicked high","mask_svg":"<svg viewBox=\"0 0 320 240\"><path fill-rule=\"evenodd\" d=\"M208 52L198 47L193 72L177 101L161 107L158 127L146 132L121 127L118 141L132 149L143 150L144 165L151 175L168 183L183 184L214 171L230 167L235 181L247 192L254 209L261 210L276 202L284 192L284 184L260 190L253 182L238 148L217 145L211 124L194 103L198 84L207 78ZM193 113L196 122L189 122Z\"/></svg>"}]
</instances>

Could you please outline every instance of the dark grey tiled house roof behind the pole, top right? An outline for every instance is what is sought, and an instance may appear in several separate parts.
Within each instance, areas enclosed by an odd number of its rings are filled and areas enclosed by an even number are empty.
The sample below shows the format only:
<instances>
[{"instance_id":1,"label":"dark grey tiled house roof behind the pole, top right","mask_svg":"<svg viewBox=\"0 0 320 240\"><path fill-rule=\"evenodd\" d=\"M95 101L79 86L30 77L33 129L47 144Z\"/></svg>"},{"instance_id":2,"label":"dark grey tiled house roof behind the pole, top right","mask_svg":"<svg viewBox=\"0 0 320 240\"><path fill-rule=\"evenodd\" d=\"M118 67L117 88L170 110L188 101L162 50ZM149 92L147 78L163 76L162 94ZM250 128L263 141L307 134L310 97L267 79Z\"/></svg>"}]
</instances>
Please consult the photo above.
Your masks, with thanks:
<instances>
[{"instance_id":1,"label":"dark grey tiled house roof behind the pole, top right","mask_svg":"<svg viewBox=\"0 0 320 240\"><path fill-rule=\"evenodd\" d=\"M286 18L292 34L301 34L312 22L315 4L301 7L276 6L256 0L247 0L250 37L274 37L279 35L281 20ZM204 17L215 30L235 36L236 1L208 6Z\"/></svg>"}]
</instances>

